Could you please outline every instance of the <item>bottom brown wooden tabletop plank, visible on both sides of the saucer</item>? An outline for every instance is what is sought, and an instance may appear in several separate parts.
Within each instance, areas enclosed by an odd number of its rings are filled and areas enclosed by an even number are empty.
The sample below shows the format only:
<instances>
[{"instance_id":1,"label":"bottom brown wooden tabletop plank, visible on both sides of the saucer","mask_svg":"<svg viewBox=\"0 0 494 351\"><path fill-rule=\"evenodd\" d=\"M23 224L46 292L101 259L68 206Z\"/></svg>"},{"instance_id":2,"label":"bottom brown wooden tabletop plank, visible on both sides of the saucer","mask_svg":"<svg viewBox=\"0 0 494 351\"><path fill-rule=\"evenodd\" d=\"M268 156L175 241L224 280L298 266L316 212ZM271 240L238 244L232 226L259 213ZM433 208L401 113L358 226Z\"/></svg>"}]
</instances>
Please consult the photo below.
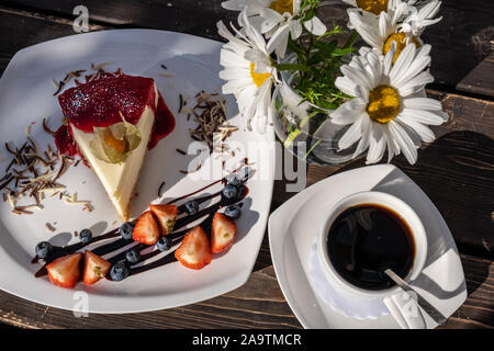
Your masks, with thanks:
<instances>
[{"instance_id":1,"label":"bottom brown wooden tabletop plank, visible on both sides of the saucer","mask_svg":"<svg viewBox=\"0 0 494 351\"><path fill-rule=\"evenodd\" d=\"M461 256L469 298L442 328L494 327L494 265ZM238 290L199 304L130 315L74 317L71 312L0 294L0 321L24 328L300 328L272 267L251 274Z\"/></svg>"}]
</instances>

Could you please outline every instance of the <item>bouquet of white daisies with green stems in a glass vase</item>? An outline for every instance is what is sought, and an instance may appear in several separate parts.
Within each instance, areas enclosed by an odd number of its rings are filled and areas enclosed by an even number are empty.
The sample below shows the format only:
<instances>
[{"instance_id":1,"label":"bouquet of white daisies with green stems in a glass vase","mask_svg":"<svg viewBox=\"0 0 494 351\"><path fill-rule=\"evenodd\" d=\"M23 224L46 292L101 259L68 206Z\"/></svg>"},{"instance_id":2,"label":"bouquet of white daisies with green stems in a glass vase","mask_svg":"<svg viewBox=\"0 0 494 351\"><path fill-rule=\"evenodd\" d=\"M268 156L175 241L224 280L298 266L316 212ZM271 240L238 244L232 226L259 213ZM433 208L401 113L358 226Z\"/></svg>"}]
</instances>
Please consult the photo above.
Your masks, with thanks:
<instances>
[{"instance_id":1,"label":"bouquet of white daisies with green stems in a glass vase","mask_svg":"<svg viewBox=\"0 0 494 351\"><path fill-rule=\"evenodd\" d=\"M424 29L440 21L437 0L345 0L348 23L332 29L324 7L343 1L229 0L238 29L218 22L226 82L245 127L274 126L284 147L307 161L338 163L367 151L367 163L403 152L417 160L448 120L425 86L430 45ZM341 39L344 38L344 39ZM356 47L356 43L362 43Z\"/></svg>"}]
</instances>

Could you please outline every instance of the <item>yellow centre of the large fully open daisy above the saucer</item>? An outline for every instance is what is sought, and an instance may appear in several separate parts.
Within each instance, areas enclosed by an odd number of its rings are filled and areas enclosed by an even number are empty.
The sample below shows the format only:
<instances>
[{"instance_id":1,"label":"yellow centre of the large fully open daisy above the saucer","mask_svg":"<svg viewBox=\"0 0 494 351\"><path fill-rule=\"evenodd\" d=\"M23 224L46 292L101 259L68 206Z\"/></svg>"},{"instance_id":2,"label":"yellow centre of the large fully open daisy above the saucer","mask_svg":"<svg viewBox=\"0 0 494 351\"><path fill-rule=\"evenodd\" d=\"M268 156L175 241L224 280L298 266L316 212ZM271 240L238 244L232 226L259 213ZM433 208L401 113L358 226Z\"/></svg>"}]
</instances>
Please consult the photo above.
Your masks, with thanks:
<instances>
[{"instance_id":1,"label":"yellow centre of the large fully open daisy above the saucer","mask_svg":"<svg viewBox=\"0 0 494 351\"><path fill-rule=\"evenodd\" d=\"M390 86L379 86L369 92L367 113L378 123L392 121L400 112L400 95Z\"/></svg>"}]
</instances>

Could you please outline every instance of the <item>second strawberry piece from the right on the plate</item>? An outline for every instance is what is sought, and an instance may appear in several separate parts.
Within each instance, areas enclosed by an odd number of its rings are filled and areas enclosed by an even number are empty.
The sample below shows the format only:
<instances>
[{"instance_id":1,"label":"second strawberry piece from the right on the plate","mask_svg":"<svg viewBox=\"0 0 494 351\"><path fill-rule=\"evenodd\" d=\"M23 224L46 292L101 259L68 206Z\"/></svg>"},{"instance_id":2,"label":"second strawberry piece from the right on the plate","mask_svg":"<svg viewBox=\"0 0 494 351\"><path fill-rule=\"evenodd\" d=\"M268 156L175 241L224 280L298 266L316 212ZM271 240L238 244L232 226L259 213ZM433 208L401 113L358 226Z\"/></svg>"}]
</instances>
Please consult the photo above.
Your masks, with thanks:
<instances>
[{"instance_id":1,"label":"second strawberry piece from the right on the plate","mask_svg":"<svg viewBox=\"0 0 494 351\"><path fill-rule=\"evenodd\" d=\"M193 270L200 270L211 263L210 240L200 226L186 234L182 244L175 251L175 257L184 267Z\"/></svg>"}]
</instances>

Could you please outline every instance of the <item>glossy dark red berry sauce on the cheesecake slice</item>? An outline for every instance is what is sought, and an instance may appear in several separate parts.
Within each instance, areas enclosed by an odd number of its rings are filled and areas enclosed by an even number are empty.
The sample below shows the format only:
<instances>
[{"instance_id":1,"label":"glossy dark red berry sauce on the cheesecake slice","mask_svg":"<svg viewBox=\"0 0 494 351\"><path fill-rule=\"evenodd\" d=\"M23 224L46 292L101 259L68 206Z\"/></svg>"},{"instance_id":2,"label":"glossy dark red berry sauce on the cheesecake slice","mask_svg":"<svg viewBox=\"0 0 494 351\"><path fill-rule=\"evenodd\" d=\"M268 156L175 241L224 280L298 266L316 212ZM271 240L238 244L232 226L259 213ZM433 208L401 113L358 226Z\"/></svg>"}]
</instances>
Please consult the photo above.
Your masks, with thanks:
<instances>
[{"instance_id":1,"label":"glossy dark red berry sauce on the cheesecake slice","mask_svg":"<svg viewBox=\"0 0 494 351\"><path fill-rule=\"evenodd\" d=\"M155 112L155 124L148 148L154 148L175 128L175 117L161 94L155 106L151 78L127 76L120 71L93 80L89 76L86 83L60 94L58 102L68 123L87 133L92 133L93 127L108 127L122 122L122 116L126 122L137 124L144 109L150 107ZM79 154L70 128L65 125L57 131L55 143L61 154Z\"/></svg>"}]
</instances>

